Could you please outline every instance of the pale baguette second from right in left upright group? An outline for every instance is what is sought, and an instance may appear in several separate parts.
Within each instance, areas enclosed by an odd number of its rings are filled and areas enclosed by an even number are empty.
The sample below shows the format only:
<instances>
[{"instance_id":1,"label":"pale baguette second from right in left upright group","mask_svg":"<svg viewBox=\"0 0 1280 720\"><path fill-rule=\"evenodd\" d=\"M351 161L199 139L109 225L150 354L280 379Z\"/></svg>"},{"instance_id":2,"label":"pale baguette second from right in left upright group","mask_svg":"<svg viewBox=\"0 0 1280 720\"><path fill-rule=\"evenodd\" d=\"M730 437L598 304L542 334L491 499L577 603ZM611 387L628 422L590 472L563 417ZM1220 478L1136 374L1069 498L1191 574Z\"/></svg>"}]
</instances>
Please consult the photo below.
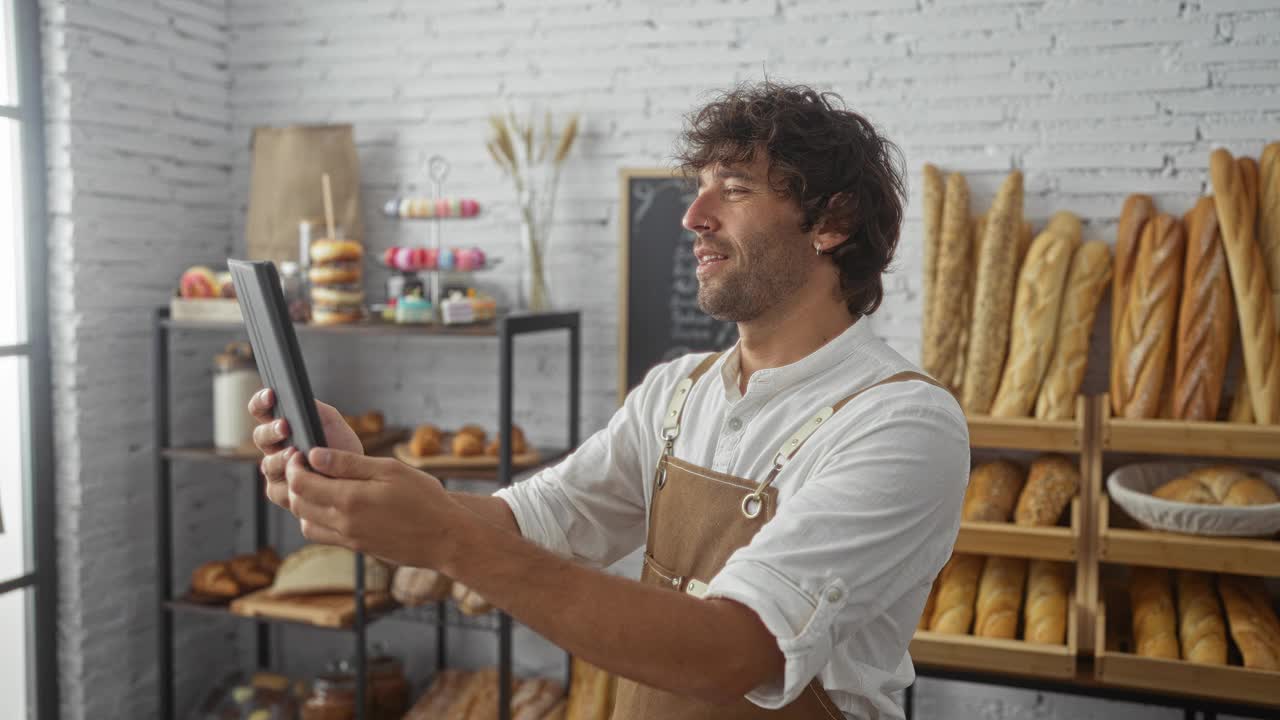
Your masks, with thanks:
<instances>
[{"instance_id":1,"label":"pale baguette second from right in left upright group","mask_svg":"<svg viewBox=\"0 0 1280 720\"><path fill-rule=\"evenodd\" d=\"M1032 243L1023 263L1014 300L1009 357L991 405L995 416L1023 418L1036 405L1036 395L1053 356L1066 274L1080 246L1080 236L1068 232L1047 228Z\"/></svg>"}]
</instances>

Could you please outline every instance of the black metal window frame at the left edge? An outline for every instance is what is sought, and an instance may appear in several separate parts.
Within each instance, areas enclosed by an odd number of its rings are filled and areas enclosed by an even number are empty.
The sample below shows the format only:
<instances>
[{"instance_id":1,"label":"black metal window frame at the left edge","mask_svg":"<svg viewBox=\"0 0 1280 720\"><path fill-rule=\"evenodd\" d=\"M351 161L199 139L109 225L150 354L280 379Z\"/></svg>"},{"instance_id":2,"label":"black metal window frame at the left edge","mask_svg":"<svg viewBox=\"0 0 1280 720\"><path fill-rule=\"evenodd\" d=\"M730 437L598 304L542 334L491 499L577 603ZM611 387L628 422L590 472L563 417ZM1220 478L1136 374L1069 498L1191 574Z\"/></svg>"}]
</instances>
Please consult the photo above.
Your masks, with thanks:
<instances>
[{"instance_id":1,"label":"black metal window frame at the left edge","mask_svg":"<svg viewBox=\"0 0 1280 720\"><path fill-rule=\"evenodd\" d=\"M0 108L0 117L18 120L22 158L23 238L26 259L27 342L0 348L0 356L27 357L27 443L24 507L29 525L26 542L28 571L0 582L0 594L32 588L27 612L35 632L26 638L27 657L35 667L35 717L58 716L58 547L54 509L52 384L45 247L45 114L40 59L40 6L36 0L13 4L15 106ZM28 687L31 687L28 675Z\"/></svg>"}]
</instances>

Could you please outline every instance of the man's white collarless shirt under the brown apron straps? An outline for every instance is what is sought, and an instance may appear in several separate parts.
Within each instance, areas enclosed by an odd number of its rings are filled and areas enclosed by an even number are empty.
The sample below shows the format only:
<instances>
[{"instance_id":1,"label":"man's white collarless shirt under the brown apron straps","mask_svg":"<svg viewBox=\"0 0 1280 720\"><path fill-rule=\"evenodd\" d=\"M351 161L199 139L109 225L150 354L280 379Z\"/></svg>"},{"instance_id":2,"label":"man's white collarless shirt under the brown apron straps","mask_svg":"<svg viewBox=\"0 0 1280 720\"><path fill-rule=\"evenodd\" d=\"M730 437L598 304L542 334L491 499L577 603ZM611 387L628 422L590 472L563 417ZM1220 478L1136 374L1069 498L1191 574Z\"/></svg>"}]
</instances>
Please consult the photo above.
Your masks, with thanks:
<instances>
[{"instance_id":1,"label":"man's white collarless shirt under the brown apron straps","mask_svg":"<svg viewBox=\"0 0 1280 720\"><path fill-rule=\"evenodd\" d=\"M662 415L704 357L654 368L563 462L499 491L521 533L600 566L641 547ZM755 372L745 395L733 348L694 386L675 455L763 479L818 410L904 370L919 372L865 320L797 363ZM902 717L890 693L915 679L908 643L951 555L968 477L964 413L923 382L872 388L808 439L774 480L773 520L709 583L707 597L754 610L786 657L785 676L749 701L782 707L818 676L846 716Z\"/></svg>"}]
</instances>

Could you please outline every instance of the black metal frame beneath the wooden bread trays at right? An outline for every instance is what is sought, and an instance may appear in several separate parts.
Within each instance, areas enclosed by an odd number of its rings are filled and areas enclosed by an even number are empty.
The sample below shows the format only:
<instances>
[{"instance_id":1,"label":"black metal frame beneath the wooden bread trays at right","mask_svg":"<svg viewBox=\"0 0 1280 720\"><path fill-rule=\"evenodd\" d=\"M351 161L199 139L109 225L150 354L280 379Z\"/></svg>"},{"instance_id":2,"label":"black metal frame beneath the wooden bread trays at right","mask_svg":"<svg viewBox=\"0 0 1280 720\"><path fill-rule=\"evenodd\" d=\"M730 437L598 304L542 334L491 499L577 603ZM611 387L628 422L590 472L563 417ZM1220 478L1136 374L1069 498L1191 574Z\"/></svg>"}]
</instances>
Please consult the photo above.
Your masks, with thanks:
<instances>
[{"instance_id":1,"label":"black metal frame beneath the wooden bread trays at right","mask_svg":"<svg viewBox=\"0 0 1280 720\"><path fill-rule=\"evenodd\" d=\"M1119 702L1137 702L1142 705L1156 705L1162 707L1180 708L1184 717L1192 720L1196 715L1211 720L1219 712L1226 715L1240 715L1244 717L1275 717L1275 708L1266 708L1257 705L1239 702L1216 701L1204 697L1178 696L1143 691L1137 688L1124 688L1103 684L1079 684L1070 680L1053 680L1048 678L1029 678L1019 675L1002 675L998 673L982 673L974 670L956 670L936 666L916 666L918 678L932 678L937 680L960 680L965 683L978 683L983 685L1001 685L1006 688L1019 688L1025 691L1051 692L1071 694L1079 697L1092 697L1097 700L1112 700ZM904 711L906 720L911 720L915 705L915 685L906 688L904 694Z\"/></svg>"}]
</instances>

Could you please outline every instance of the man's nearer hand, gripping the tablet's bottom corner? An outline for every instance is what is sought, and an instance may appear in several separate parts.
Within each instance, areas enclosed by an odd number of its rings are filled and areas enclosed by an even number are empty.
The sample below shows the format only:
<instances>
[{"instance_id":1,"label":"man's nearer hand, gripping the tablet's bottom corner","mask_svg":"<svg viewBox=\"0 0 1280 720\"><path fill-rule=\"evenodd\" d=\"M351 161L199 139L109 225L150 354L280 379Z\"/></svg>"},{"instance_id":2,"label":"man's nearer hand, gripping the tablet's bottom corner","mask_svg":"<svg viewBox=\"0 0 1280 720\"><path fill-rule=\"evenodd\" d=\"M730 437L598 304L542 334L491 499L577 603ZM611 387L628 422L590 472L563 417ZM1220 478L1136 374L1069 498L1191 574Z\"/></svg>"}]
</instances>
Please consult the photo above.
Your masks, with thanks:
<instances>
[{"instance_id":1,"label":"man's nearer hand, gripping the tablet's bottom corner","mask_svg":"<svg viewBox=\"0 0 1280 720\"><path fill-rule=\"evenodd\" d=\"M439 569L451 529L475 518L440 480L390 457L317 447L285 464L288 507L311 542L338 544L397 565Z\"/></svg>"}]
</instances>

